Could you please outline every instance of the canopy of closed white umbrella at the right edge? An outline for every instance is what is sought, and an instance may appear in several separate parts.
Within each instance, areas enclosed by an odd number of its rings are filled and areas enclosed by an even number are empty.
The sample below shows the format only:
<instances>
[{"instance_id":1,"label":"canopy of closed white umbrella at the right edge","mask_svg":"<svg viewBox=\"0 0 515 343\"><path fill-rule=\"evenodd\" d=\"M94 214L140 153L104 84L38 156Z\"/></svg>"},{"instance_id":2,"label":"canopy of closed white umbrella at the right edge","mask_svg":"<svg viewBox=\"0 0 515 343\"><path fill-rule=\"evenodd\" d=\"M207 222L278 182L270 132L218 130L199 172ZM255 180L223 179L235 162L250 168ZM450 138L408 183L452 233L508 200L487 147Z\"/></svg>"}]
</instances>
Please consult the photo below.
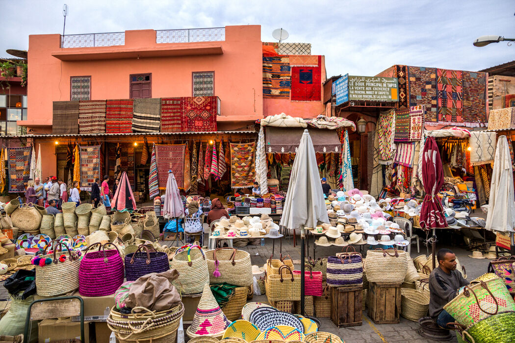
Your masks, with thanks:
<instances>
[{"instance_id":1,"label":"canopy of closed white umbrella at the right edge","mask_svg":"<svg viewBox=\"0 0 515 343\"><path fill-rule=\"evenodd\" d=\"M490 201L485 228L513 232L515 203L513 202L513 171L506 136L497 140L493 162Z\"/></svg>"}]
</instances>

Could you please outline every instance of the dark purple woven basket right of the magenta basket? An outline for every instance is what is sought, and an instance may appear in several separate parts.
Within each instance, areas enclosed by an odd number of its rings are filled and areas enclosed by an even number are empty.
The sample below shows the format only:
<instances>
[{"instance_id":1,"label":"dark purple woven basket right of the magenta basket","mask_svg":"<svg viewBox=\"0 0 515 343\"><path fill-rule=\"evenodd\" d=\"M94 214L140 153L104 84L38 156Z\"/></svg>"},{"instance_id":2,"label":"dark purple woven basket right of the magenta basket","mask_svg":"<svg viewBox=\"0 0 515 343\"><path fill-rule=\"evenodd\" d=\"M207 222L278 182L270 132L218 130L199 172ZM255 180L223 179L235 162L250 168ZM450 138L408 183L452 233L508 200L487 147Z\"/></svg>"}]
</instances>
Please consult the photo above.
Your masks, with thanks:
<instances>
[{"instance_id":1,"label":"dark purple woven basket right of the magenta basket","mask_svg":"<svg viewBox=\"0 0 515 343\"><path fill-rule=\"evenodd\" d=\"M146 251L140 251L145 249ZM125 256L125 277L127 281L135 281L143 275L150 273L162 273L170 269L168 255L165 252L149 251L144 245L140 245L133 254Z\"/></svg>"}]
</instances>

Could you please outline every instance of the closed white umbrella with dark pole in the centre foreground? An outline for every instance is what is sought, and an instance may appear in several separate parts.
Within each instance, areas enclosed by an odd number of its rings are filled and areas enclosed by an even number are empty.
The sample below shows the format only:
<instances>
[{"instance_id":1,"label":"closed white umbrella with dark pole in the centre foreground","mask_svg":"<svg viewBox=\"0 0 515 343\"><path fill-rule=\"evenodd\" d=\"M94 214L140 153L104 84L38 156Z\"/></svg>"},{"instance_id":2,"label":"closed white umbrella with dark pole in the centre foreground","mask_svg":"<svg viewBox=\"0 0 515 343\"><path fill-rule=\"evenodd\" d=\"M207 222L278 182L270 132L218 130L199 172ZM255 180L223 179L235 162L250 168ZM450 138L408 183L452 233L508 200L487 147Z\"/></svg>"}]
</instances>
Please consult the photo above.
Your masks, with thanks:
<instances>
[{"instance_id":1,"label":"closed white umbrella with dark pole in the centre foreground","mask_svg":"<svg viewBox=\"0 0 515 343\"><path fill-rule=\"evenodd\" d=\"M287 229L301 229L301 314L304 313L304 227L314 228L318 222L329 223L329 217L323 198L313 141L308 131L304 130L291 168L280 223Z\"/></svg>"}]
</instances>

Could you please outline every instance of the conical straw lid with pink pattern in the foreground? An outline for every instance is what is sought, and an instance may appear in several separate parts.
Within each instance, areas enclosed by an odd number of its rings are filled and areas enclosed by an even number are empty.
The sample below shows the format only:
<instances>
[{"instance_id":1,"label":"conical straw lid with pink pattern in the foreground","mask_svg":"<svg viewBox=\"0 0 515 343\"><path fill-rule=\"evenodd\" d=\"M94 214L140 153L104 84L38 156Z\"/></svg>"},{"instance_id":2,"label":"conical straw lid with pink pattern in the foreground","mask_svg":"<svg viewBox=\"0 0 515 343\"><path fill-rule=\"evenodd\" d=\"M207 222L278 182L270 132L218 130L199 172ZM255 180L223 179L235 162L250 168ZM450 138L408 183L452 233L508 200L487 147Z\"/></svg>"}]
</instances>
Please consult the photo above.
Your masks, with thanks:
<instances>
[{"instance_id":1,"label":"conical straw lid with pink pattern in the foreground","mask_svg":"<svg viewBox=\"0 0 515 343\"><path fill-rule=\"evenodd\" d=\"M198 336L219 337L231 324L215 300L209 284L204 285L202 297L191 326L186 330L190 338Z\"/></svg>"}]
</instances>

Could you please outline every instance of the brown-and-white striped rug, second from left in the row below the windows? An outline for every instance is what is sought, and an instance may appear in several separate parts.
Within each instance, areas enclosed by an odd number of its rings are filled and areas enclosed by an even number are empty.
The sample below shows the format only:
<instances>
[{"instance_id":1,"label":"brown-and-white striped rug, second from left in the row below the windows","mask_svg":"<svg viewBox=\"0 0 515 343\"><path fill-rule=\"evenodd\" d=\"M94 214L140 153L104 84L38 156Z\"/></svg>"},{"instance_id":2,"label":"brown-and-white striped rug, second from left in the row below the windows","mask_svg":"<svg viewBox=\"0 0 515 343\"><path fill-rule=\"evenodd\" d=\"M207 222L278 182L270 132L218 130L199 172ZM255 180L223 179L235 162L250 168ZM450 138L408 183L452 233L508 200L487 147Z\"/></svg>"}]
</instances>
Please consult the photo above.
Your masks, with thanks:
<instances>
[{"instance_id":1,"label":"brown-and-white striped rug, second from left in the row below the windows","mask_svg":"<svg viewBox=\"0 0 515 343\"><path fill-rule=\"evenodd\" d=\"M79 133L106 133L106 100L79 101Z\"/></svg>"}]
</instances>

